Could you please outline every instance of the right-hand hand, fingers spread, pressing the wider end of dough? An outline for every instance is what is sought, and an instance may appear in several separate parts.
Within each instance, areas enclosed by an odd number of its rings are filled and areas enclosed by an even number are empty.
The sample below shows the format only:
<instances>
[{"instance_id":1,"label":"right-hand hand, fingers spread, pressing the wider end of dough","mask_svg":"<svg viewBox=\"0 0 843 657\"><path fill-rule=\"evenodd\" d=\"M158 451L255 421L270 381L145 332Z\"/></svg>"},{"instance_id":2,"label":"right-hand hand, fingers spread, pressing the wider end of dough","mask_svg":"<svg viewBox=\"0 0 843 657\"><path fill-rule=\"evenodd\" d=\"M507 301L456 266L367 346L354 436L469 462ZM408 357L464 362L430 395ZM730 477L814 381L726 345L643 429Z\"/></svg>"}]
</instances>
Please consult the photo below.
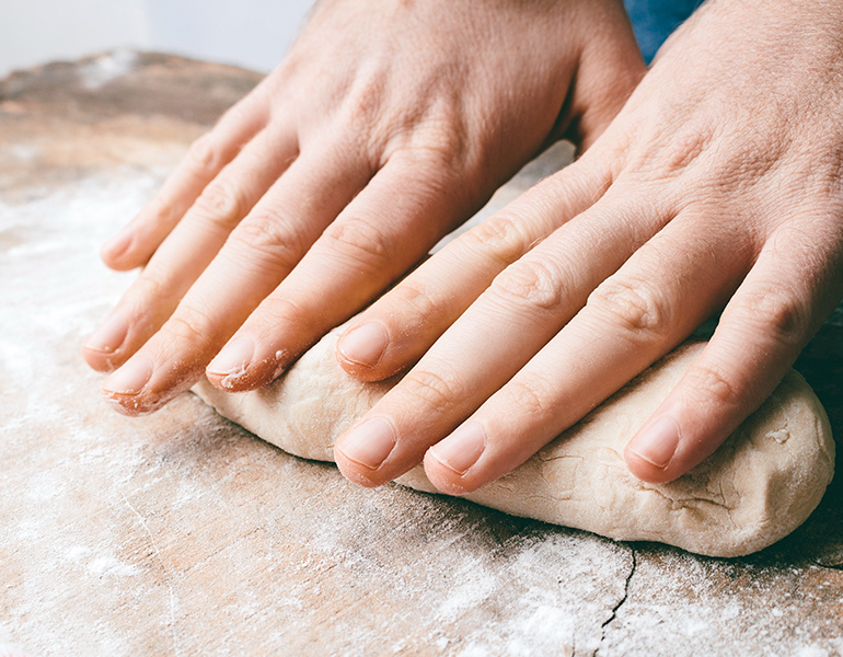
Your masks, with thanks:
<instances>
[{"instance_id":1,"label":"right-hand hand, fingers spread, pressing the wider end of dough","mask_svg":"<svg viewBox=\"0 0 843 657\"><path fill-rule=\"evenodd\" d=\"M379 485L424 459L439 489L474 491L723 310L625 452L645 481L682 475L773 391L843 295L841 172L843 5L707 3L580 160L340 336L359 378L420 357L339 438L342 471Z\"/></svg>"}]
</instances>

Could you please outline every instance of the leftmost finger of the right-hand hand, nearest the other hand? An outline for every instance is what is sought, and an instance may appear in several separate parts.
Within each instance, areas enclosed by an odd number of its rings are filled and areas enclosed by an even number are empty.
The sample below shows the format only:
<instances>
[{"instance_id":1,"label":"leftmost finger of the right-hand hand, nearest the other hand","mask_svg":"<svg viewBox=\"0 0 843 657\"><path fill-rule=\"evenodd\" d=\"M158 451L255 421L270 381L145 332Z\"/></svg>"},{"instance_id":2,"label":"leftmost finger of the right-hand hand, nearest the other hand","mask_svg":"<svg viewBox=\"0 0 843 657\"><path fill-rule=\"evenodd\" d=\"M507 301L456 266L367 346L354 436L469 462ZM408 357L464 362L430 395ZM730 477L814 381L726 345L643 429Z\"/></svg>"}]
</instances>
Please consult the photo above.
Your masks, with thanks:
<instances>
[{"instance_id":1,"label":"leftmost finger of the right-hand hand, nearest the other hand","mask_svg":"<svg viewBox=\"0 0 843 657\"><path fill-rule=\"evenodd\" d=\"M495 276L597 203L608 183L605 168L584 158L460 235L346 328L343 368L379 381L418 360Z\"/></svg>"}]
</instances>

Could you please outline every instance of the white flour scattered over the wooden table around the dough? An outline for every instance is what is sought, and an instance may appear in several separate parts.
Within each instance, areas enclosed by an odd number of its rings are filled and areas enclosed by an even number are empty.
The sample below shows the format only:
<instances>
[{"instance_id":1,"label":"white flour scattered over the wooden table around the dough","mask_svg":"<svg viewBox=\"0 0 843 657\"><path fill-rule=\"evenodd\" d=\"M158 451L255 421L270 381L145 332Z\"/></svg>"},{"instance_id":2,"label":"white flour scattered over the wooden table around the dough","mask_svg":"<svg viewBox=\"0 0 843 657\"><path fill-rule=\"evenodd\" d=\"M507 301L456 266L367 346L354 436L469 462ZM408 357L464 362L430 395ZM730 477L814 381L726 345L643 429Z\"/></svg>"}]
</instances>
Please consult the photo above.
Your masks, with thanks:
<instances>
[{"instance_id":1,"label":"white flour scattered over the wooden table around the dough","mask_svg":"<svg viewBox=\"0 0 843 657\"><path fill-rule=\"evenodd\" d=\"M85 83L131 66L93 62ZM159 183L112 172L0 201L0 277L19 281L0 288L0 497L15 495L0 498L11 573L0 637L41 657L128 656L155 638L161 654L190 654L212 624L233 629L232 653L272 641L287 654L702 655L749 637L759 655L834 655L793 632L817 579L804 568L762 573L404 488L361 491L332 468L240 449L243 435L189 399L139 424L80 404L100 377L78 345L132 277L106 273L99 246ZM142 497L174 480L172 498ZM197 534L217 527L242 537L193 560L216 539ZM730 588L753 578L764 584L752 595Z\"/></svg>"}]
</instances>

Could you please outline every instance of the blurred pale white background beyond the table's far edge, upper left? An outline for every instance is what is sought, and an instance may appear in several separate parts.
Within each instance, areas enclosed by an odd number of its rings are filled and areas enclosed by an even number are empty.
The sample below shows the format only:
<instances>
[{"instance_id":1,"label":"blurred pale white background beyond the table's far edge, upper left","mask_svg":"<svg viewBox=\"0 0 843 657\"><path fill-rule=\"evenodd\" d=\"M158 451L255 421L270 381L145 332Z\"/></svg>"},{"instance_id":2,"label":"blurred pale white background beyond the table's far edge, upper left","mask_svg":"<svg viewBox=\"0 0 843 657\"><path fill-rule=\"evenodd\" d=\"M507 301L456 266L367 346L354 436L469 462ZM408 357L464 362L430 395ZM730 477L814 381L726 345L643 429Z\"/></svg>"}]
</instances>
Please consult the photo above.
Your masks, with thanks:
<instances>
[{"instance_id":1,"label":"blurred pale white background beyond the table's far edge, upper left","mask_svg":"<svg viewBox=\"0 0 843 657\"><path fill-rule=\"evenodd\" d=\"M269 71L312 0L0 0L0 77L114 48Z\"/></svg>"}]
</instances>

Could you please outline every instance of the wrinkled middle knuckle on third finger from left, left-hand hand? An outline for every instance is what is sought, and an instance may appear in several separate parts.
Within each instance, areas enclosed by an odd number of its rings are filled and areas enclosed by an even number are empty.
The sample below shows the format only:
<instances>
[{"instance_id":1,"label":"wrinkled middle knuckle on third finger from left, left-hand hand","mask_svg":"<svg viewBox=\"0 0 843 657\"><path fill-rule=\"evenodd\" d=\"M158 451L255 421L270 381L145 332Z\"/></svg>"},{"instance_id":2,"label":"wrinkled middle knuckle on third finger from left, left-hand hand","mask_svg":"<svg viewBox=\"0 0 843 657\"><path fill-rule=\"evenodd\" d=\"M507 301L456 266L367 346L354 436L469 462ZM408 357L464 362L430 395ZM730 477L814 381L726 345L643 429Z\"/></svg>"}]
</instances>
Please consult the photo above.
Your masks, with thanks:
<instances>
[{"instance_id":1,"label":"wrinkled middle knuckle on third finger from left, left-hand hand","mask_svg":"<svg viewBox=\"0 0 843 657\"><path fill-rule=\"evenodd\" d=\"M301 233L268 210L242 221L232 233L231 242L241 247L249 260L262 258L262 264L273 263L284 270L291 270L307 251Z\"/></svg>"}]
</instances>

